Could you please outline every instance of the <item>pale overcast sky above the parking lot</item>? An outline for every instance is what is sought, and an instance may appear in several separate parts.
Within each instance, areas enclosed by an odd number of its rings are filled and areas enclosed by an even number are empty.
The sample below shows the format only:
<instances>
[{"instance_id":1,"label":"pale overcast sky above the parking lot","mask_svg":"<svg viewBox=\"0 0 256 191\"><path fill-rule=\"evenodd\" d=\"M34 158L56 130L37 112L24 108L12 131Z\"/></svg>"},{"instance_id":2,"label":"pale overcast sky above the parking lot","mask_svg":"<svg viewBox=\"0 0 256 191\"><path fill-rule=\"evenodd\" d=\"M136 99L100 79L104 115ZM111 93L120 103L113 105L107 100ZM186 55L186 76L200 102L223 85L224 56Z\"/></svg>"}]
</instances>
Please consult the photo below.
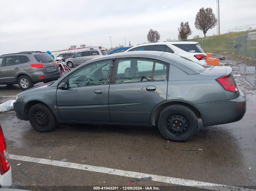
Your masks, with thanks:
<instances>
[{"instance_id":1,"label":"pale overcast sky above the parking lot","mask_svg":"<svg viewBox=\"0 0 256 191\"><path fill-rule=\"evenodd\" d=\"M181 22L193 31L201 7L211 7L217 16L216 0L8 0L1 1L0 55L18 51L53 51L79 43L86 46L128 46L147 41L149 29L158 30L160 41L177 39ZM256 24L255 0L220 0L221 33L236 26ZM255 25L254 25L255 26ZM206 35L217 33L217 27Z\"/></svg>"}]
</instances>

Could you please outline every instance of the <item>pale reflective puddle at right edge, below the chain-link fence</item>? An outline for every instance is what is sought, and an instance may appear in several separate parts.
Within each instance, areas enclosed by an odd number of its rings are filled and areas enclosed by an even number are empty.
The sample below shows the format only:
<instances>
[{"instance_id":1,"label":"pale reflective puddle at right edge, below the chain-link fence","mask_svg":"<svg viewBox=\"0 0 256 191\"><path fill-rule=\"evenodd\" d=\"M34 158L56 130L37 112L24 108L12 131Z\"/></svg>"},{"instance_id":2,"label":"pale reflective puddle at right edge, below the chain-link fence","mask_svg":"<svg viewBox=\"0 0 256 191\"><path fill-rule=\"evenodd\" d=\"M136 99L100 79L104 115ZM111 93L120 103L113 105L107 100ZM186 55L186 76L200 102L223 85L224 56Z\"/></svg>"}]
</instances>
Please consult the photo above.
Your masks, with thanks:
<instances>
[{"instance_id":1,"label":"pale reflective puddle at right edge, below the chain-link fence","mask_svg":"<svg viewBox=\"0 0 256 191\"><path fill-rule=\"evenodd\" d=\"M241 72L241 76L251 85L256 86L256 66L239 66L235 71Z\"/></svg>"}]
</instances>

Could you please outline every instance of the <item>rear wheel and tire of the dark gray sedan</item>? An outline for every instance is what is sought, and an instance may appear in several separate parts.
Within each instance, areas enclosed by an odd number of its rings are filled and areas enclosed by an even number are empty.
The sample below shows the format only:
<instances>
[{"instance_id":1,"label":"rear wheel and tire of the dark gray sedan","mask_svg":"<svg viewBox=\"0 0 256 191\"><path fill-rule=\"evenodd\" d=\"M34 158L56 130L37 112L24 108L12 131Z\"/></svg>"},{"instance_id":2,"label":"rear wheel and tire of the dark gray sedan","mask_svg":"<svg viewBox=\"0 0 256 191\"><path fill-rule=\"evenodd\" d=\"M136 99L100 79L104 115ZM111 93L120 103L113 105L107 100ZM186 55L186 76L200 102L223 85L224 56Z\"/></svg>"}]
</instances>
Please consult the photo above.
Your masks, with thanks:
<instances>
[{"instance_id":1,"label":"rear wheel and tire of the dark gray sedan","mask_svg":"<svg viewBox=\"0 0 256 191\"><path fill-rule=\"evenodd\" d=\"M169 141L185 142L196 134L198 120L189 107L171 105L160 113L158 129Z\"/></svg>"}]
</instances>

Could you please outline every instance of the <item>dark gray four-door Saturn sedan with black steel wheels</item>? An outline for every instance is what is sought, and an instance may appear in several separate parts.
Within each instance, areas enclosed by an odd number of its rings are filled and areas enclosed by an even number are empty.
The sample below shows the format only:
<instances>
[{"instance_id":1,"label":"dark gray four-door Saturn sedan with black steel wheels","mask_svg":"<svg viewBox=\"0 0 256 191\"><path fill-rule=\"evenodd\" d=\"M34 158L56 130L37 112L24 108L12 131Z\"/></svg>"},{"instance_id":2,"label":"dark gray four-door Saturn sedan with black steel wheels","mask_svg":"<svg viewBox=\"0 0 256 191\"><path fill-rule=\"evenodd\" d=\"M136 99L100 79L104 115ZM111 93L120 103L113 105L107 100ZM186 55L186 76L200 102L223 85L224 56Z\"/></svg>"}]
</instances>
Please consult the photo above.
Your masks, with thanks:
<instances>
[{"instance_id":1,"label":"dark gray four-door Saturn sedan with black steel wheels","mask_svg":"<svg viewBox=\"0 0 256 191\"><path fill-rule=\"evenodd\" d=\"M166 52L117 53L18 94L14 110L40 132L57 123L153 125L168 140L188 141L198 118L211 126L244 116L246 100L231 72Z\"/></svg>"}]
</instances>

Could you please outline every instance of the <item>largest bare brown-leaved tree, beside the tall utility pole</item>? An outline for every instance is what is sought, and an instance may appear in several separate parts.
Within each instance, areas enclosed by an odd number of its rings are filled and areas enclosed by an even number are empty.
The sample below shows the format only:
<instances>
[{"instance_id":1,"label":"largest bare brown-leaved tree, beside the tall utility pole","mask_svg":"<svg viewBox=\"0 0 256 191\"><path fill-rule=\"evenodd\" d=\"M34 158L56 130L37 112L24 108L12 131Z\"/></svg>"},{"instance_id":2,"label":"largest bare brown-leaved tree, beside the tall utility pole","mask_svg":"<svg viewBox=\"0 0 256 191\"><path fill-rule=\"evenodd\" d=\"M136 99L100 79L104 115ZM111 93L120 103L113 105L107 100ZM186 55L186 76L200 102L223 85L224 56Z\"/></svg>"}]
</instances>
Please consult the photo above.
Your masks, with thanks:
<instances>
[{"instance_id":1,"label":"largest bare brown-leaved tree, beside the tall utility pole","mask_svg":"<svg viewBox=\"0 0 256 191\"><path fill-rule=\"evenodd\" d=\"M217 24L217 18L212 12L211 8L204 9L203 7L199 9L199 12L195 17L195 28L203 31L204 37L209 29L212 29Z\"/></svg>"}]
</instances>

